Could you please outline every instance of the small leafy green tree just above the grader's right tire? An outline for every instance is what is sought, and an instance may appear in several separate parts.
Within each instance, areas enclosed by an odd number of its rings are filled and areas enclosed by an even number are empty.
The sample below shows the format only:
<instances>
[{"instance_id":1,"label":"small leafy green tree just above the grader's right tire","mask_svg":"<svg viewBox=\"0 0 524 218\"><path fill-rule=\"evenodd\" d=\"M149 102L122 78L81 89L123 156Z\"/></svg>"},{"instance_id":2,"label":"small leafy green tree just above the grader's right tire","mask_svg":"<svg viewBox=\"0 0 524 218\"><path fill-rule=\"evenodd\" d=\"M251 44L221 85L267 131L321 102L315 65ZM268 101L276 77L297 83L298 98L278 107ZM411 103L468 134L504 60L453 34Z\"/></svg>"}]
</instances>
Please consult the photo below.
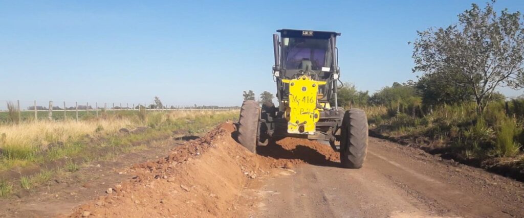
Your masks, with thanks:
<instances>
[{"instance_id":1,"label":"small leafy green tree just above the grader's right tire","mask_svg":"<svg viewBox=\"0 0 524 218\"><path fill-rule=\"evenodd\" d=\"M365 106L369 101L369 93L367 90L359 91L355 85L350 83L346 83L342 88L339 88L336 95L339 106L346 108L351 108L353 105ZM332 100L330 104L334 105L334 100Z\"/></svg>"}]
</instances>

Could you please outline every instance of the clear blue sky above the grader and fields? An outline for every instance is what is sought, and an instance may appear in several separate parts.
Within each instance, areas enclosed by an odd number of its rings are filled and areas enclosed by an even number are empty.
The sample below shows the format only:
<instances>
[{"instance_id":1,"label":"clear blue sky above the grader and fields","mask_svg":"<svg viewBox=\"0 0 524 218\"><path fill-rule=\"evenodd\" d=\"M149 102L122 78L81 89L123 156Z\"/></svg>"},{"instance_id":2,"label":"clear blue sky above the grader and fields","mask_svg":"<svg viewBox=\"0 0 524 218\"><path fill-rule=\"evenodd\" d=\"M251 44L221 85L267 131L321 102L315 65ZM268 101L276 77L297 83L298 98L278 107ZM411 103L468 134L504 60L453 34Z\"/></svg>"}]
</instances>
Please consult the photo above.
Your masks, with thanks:
<instances>
[{"instance_id":1,"label":"clear blue sky above the grader and fields","mask_svg":"<svg viewBox=\"0 0 524 218\"><path fill-rule=\"evenodd\" d=\"M415 79L407 42L471 3L0 1L0 101L240 105L243 90L275 91L281 28L342 32L342 81L373 93ZM524 12L524 1L495 7Z\"/></svg>"}]
</instances>

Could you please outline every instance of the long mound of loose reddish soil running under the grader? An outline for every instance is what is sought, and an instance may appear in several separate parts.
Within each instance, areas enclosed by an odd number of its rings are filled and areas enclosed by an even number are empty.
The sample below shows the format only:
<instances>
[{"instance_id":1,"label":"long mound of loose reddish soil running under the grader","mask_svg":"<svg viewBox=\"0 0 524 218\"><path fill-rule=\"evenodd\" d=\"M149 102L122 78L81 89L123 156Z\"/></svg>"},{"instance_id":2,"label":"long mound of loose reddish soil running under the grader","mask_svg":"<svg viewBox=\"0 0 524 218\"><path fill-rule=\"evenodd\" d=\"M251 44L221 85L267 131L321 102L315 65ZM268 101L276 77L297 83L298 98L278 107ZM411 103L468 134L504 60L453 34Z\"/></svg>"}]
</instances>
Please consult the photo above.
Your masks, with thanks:
<instances>
[{"instance_id":1,"label":"long mound of loose reddish soil running under the grader","mask_svg":"<svg viewBox=\"0 0 524 218\"><path fill-rule=\"evenodd\" d=\"M169 156L129 169L132 179L107 190L70 217L231 217L249 179L273 167L336 164L329 146L284 139L255 155L232 139L234 125L219 125L204 137L175 147ZM326 161L328 160L328 161Z\"/></svg>"}]
</instances>

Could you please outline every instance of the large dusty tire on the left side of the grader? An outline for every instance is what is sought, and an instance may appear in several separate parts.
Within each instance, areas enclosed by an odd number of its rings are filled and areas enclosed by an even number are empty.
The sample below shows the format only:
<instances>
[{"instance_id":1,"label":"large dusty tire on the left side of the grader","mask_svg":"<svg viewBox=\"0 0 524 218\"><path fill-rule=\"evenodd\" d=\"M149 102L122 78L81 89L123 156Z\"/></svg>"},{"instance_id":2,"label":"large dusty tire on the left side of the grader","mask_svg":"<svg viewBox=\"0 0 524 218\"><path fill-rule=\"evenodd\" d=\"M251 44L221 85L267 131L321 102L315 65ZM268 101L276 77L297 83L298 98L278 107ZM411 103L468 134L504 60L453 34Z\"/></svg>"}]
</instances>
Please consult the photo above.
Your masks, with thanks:
<instances>
[{"instance_id":1,"label":"large dusty tire on the left side of the grader","mask_svg":"<svg viewBox=\"0 0 524 218\"><path fill-rule=\"evenodd\" d=\"M258 119L260 105L255 100L246 100L238 118L238 142L250 152L257 153Z\"/></svg>"}]
</instances>

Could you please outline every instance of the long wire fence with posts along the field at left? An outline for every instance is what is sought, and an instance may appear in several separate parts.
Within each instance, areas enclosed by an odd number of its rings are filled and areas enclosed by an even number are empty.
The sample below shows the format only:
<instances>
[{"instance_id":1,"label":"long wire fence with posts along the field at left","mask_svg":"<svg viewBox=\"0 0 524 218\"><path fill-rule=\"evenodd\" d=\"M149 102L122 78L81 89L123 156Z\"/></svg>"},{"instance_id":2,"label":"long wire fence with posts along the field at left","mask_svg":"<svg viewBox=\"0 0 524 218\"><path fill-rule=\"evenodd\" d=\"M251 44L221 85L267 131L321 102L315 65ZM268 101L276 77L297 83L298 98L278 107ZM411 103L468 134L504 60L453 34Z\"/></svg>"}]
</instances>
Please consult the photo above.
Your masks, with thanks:
<instances>
[{"instance_id":1,"label":"long wire fence with posts along the field at left","mask_svg":"<svg viewBox=\"0 0 524 218\"><path fill-rule=\"evenodd\" d=\"M238 106L184 106L144 103L100 103L100 102L67 102L67 101L20 101L0 100L0 122L25 120L60 120L76 119L85 116L101 116L102 114L133 113L145 111L174 110L239 110Z\"/></svg>"}]
</instances>

